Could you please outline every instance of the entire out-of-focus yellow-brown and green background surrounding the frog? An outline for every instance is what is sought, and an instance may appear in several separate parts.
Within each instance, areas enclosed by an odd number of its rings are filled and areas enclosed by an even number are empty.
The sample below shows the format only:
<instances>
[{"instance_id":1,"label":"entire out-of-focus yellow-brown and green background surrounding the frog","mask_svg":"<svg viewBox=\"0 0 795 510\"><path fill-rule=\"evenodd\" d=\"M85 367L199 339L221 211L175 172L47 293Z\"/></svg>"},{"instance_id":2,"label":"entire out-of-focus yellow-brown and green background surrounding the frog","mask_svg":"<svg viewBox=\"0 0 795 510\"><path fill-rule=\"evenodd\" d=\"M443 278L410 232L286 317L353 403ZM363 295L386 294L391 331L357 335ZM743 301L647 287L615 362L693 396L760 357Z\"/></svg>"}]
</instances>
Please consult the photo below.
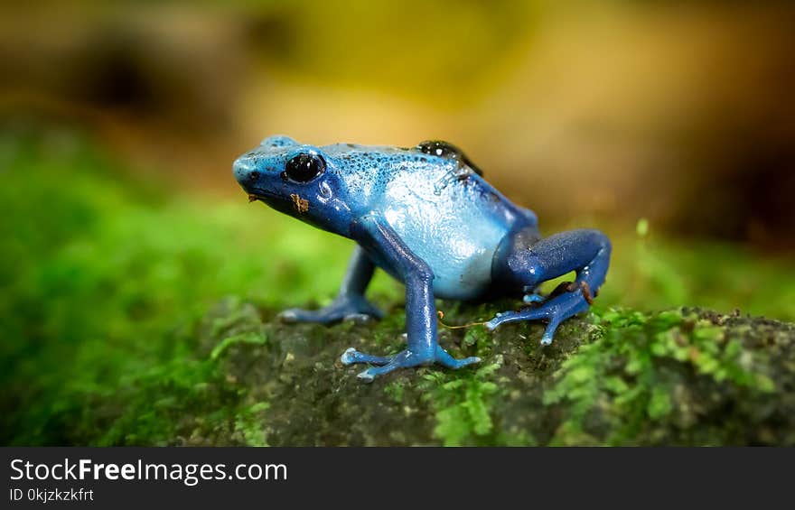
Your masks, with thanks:
<instances>
[{"instance_id":1,"label":"entire out-of-focus yellow-brown and green background surrounding the frog","mask_svg":"<svg viewBox=\"0 0 795 510\"><path fill-rule=\"evenodd\" d=\"M6 3L2 407L42 405L2 439L96 440L90 399L173 370L224 295L331 300L351 245L231 177L269 134L448 140L544 233L609 233L601 306L795 320L793 27L791 3Z\"/></svg>"}]
</instances>

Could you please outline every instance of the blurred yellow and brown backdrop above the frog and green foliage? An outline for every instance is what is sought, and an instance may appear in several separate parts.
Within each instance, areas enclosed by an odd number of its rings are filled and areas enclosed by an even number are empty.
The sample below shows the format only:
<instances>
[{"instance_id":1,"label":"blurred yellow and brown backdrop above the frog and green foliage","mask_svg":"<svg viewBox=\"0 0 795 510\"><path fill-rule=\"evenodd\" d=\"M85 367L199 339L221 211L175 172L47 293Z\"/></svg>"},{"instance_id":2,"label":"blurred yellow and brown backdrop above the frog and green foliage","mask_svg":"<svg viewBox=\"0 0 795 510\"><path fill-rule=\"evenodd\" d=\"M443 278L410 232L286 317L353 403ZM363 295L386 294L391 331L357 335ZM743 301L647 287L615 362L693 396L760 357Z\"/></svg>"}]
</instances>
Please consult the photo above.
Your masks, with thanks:
<instances>
[{"instance_id":1,"label":"blurred yellow and brown backdrop above the frog and green foliage","mask_svg":"<svg viewBox=\"0 0 795 510\"><path fill-rule=\"evenodd\" d=\"M267 134L442 138L545 223L795 246L791 6L67 4L4 8L5 125L78 127L181 187L237 192Z\"/></svg>"}]
</instances>

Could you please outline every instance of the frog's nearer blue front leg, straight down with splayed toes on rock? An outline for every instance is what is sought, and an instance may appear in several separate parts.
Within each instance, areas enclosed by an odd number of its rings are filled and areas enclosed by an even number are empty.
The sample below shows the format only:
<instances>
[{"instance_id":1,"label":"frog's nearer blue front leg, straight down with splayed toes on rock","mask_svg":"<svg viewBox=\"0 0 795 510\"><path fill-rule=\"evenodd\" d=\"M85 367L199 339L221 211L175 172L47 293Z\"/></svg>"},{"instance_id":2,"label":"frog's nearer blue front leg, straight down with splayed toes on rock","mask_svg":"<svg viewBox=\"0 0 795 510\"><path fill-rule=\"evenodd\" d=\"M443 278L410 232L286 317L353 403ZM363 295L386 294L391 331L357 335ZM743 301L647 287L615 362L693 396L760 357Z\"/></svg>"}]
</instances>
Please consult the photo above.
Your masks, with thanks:
<instances>
[{"instance_id":1,"label":"frog's nearer blue front leg, straight down with splayed toes on rock","mask_svg":"<svg viewBox=\"0 0 795 510\"><path fill-rule=\"evenodd\" d=\"M386 221L367 216L354 222L352 232L361 245L379 254L379 258L394 268L406 283L407 349L392 357L370 356L353 348L341 356L344 365L371 363L374 366L359 374L366 382L396 368L439 363L460 368L480 361L478 357L455 359L441 348L436 340L436 306L434 302L434 273L415 255Z\"/></svg>"}]
</instances>

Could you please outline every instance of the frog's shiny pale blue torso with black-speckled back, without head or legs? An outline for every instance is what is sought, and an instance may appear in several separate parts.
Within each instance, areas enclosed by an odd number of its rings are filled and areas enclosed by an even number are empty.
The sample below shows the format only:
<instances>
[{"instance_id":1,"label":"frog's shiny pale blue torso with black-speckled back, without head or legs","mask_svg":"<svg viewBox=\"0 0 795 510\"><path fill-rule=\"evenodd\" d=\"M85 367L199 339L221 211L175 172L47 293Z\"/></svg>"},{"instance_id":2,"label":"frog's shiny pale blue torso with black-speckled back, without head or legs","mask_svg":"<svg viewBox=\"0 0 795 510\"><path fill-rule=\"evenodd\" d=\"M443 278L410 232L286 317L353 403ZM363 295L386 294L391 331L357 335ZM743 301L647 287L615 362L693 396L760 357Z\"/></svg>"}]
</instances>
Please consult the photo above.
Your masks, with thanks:
<instances>
[{"instance_id":1,"label":"frog's shiny pale blue torso with black-speckled back, without head or legs","mask_svg":"<svg viewBox=\"0 0 795 510\"><path fill-rule=\"evenodd\" d=\"M491 260L515 217L506 208L517 208L455 161L410 150L348 148L336 159L361 212L385 218L430 265L435 295L466 300L487 292Z\"/></svg>"}]
</instances>

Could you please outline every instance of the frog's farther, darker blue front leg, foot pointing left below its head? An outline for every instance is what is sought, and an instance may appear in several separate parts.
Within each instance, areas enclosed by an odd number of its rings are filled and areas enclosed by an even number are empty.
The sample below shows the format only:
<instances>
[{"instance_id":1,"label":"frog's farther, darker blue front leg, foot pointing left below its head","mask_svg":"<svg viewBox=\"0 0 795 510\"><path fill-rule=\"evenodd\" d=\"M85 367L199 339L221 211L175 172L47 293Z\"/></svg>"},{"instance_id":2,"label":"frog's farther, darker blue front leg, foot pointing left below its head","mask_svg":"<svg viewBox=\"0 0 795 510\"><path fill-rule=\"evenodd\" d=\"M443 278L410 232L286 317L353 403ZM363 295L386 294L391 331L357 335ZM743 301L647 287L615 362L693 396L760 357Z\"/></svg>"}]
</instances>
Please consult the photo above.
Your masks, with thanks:
<instances>
[{"instance_id":1,"label":"frog's farther, darker blue front leg, foot pointing left below its head","mask_svg":"<svg viewBox=\"0 0 795 510\"><path fill-rule=\"evenodd\" d=\"M282 311L279 318L286 322L320 322L332 324L340 320L364 321L371 318L380 319L383 312L379 311L364 297L370 280L372 280L375 264L369 256L356 246L348 264L348 272L342 280L340 292L332 303L320 310L302 310L291 308Z\"/></svg>"}]
</instances>

